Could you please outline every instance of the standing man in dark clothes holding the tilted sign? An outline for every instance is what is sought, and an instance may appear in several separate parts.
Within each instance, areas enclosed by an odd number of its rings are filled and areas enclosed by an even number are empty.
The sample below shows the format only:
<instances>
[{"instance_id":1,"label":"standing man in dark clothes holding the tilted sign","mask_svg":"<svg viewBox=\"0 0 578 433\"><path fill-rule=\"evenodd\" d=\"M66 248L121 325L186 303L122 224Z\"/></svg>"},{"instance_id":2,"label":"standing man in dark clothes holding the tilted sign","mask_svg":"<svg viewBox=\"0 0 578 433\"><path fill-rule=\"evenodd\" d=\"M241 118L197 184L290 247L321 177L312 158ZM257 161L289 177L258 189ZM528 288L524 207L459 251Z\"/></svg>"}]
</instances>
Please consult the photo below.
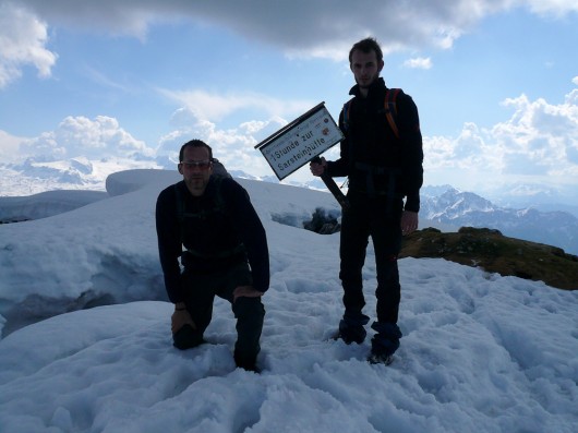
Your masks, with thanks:
<instances>
[{"instance_id":1,"label":"standing man in dark clothes holding the tilted sign","mask_svg":"<svg viewBox=\"0 0 578 433\"><path fill-rule=\"evenodd\" d=\"M383 53L374 38L360 40L349 52L356 85L353 95L339 116L345 133L340 158L312 163L311 172L332 177L349 176L340 239L339 278L344 287L345 314L337 338L361 344L370 317L362 313L365 300L362 268L369 237L372 238L377 269L377 321L371 340L372 363L390 363L399 347L397 326L400 285L397 257L401 236L418 228L420 188L423 182L423 149L418 108L409 95L399 91L395 99L397 121L386 117L388 88L380 72ZM394 92L394 91L389 91ZM396 131L397 129L397 131ZM406 202L404 203L404 197Z\"/></svg>"}]
</instances>

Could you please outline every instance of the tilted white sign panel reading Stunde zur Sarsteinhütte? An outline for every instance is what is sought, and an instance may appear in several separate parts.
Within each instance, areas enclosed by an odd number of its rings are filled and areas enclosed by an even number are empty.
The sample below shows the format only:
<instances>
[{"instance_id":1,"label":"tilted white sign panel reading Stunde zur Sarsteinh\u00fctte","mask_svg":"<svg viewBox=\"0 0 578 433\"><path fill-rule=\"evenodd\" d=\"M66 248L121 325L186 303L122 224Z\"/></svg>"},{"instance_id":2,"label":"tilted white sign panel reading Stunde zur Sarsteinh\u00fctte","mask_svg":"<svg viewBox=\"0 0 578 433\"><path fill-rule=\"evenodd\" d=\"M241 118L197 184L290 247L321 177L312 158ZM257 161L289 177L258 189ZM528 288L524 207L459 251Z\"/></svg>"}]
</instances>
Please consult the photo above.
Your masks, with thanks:
<instances>
[{"instance_id":1,"label":"tilted white sign panel reading Stunde zur Sarsteinh\u00fctte","mask_svg":"<svg viewBox=\"0 0 578 433\"><path fill-rule=\"evenodd\" d=\"M255 146L279 180L344 140L344 133L321 103Z\"/></svg>"}]
</instances>

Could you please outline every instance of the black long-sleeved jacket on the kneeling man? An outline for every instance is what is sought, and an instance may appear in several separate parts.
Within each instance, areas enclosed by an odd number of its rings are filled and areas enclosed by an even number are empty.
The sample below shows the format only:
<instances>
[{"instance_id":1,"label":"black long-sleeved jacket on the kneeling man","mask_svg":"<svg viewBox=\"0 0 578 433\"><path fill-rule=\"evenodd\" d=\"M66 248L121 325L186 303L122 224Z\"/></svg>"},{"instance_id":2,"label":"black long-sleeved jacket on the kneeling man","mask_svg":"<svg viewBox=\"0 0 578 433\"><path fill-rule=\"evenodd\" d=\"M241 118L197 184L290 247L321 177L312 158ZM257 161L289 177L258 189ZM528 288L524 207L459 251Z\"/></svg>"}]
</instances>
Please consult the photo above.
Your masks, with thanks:
<instances>
[{"instance_id":1,"label":"black long-sleeved jacket on the kneeling man","mask_svg":"<svg viewBox=\"0 0 578 433\"><path fill-rule=\"evenodd\" d=\"M183 207L179 207L178 196ZM212 177L200 197L189 192L184 181L166 188L157 199L156 228L160 265L171 302L184 299L178 262L181 255L186 268L200 273L219 272L248 260L253 287L262 292L268 289L265 229L249 194L234 180ZM183 246L188 250L184 253Z\"/></svg>"}]
</instances>

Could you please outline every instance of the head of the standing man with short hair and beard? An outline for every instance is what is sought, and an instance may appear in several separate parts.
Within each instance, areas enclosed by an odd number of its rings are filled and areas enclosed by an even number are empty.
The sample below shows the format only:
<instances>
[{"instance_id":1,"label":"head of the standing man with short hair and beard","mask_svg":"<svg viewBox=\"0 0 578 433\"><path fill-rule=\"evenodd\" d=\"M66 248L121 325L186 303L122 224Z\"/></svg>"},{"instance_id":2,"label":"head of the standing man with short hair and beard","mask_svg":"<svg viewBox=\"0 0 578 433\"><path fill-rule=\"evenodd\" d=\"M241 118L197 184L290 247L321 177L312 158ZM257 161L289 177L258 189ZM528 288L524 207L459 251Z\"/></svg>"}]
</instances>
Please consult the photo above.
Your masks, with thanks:
<instances>
[{"instance_id":1,"label":"head of the standing man with short hair and beard","mask_svg":"<svg viewBox=\"0 0 578 433\"><path fill-rule=\"evenodd\" d=\"M383 65L382 48L374 38L362 39L351 47L349 68L362 91L366 92L368 87L380 77Z\"/></svg>"}]
</instances>

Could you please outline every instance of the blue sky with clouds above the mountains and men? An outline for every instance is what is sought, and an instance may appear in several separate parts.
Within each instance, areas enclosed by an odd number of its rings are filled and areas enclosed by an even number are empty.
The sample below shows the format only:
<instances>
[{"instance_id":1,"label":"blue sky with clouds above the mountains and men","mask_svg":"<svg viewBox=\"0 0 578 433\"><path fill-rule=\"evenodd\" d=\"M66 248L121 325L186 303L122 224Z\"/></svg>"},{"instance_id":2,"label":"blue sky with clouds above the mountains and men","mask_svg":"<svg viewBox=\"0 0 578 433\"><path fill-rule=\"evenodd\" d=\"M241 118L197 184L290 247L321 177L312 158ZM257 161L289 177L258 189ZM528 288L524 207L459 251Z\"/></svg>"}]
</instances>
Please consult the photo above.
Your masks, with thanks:
<instances>
[{"instance_id":1,"label":"blue sky with clouds above the mountains and men","mask_svg":"<svg viewBox=\"0 0 578 433\"><path fill-rule=\"evenodd\" d=\"M337 119L369 35L420 110L426 184L570 200L575 0L0 0L0 164L146 161L200 137L273 176L254 145L320 101Z\"/></svg>"}]
</instances>

